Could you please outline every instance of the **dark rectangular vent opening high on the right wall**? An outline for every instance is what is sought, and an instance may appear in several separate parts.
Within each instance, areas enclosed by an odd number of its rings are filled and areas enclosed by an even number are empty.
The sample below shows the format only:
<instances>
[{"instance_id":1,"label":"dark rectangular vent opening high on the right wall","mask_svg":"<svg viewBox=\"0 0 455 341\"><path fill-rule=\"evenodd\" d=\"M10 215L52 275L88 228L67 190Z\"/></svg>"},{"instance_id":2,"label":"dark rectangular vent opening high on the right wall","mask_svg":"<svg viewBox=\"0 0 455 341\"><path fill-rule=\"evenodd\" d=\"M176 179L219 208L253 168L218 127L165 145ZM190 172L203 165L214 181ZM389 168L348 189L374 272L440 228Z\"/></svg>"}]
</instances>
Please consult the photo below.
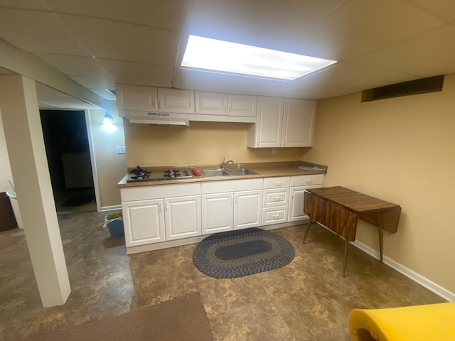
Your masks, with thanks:
<instances>
[{"instance_id":1,"label":"dark rectangular vent opening high on the right wall","mask_svg":"<svg viewBox=\"0 0 455 341\"><path fill-rule=\"evenodd\" d=\"M425 94L427 92L442 91L444 84L444 75L422 78L420 80L410 80L385 87L375 87L374 89L364 90L362 92L362 102L377 101L401 96L410 96L412 94Z\"/></svg>"}]
</instances>

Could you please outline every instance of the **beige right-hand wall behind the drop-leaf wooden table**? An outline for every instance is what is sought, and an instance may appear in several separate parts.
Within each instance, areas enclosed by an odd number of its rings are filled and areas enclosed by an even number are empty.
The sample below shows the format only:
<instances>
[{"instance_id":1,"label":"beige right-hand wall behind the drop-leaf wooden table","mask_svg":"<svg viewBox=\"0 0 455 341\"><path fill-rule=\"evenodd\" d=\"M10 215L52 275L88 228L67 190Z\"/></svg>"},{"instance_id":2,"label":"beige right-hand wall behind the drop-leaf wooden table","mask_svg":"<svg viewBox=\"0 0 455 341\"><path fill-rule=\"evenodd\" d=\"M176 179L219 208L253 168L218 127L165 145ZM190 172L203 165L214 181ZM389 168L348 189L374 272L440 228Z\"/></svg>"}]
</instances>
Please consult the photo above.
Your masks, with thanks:
<instances>
[{"instance_id":1,"label":"beige right-hand wall behind the drop-leaf wooden table","mask_svg":"<svg viewBox=\"0 0 455 341\"><path fill-rule=\"evenodd\" d=\"M455 292L455 75L444 90L375 102L360 93L319 102L314 148L305 161L328 166L341 185L402 206L385 256ZM378 249L377 230L358 241Z\"/></svg>"}]
</instances>

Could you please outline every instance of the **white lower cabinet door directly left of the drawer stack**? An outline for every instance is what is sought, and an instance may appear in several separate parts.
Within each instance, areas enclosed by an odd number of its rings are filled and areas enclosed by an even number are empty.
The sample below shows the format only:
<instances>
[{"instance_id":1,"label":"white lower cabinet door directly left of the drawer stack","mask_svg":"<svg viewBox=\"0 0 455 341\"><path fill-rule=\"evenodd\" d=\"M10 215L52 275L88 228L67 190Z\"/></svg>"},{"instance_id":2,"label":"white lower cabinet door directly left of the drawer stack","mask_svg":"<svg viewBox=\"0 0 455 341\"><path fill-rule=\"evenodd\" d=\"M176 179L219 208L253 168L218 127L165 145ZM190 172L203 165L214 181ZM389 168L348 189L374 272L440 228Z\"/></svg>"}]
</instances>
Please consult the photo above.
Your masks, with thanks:
<instances>
[{"instance_id":1,"label":"white lower cabinet door directly left of the drawer stack","mask_svg":"<svg viewBox=\"0 0 455 341\"><path fill-rule=\"evenodd\" d=\"M234 229L261 225L262 190L234 193Z\"/></svg>"}]
</instances>

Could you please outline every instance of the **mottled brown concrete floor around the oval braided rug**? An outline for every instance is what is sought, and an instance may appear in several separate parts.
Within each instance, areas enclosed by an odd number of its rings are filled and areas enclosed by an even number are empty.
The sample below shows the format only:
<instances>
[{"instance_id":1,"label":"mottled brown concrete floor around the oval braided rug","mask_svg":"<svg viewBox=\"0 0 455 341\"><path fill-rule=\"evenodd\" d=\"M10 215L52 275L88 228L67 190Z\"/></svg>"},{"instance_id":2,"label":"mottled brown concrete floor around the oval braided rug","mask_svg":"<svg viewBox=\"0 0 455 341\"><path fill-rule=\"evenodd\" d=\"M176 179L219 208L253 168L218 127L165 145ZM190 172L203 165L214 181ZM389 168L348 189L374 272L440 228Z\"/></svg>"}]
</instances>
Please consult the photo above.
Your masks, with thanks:
<instances>
[{"instance_id":1,"label":"mottled brown concrete floor around the oval braided rug","mask_svg":"<svg viewBox=\"0 0 455 341\"><path fill-rule=\"evenodd\" d=\"M352 246L343 278L343 240L316 224L306 244L302 226L274 230L294 245L291 264L218 279L193 266L196 245L127 256L124 239L102 228L105 215L59 215L72 293L54 308L41 306L23 231L0 232L0 340L69 328L191 292L200 293L213 340L236 341L349 340L353 308L444 302Z\"/></svg>"}]
</instances>

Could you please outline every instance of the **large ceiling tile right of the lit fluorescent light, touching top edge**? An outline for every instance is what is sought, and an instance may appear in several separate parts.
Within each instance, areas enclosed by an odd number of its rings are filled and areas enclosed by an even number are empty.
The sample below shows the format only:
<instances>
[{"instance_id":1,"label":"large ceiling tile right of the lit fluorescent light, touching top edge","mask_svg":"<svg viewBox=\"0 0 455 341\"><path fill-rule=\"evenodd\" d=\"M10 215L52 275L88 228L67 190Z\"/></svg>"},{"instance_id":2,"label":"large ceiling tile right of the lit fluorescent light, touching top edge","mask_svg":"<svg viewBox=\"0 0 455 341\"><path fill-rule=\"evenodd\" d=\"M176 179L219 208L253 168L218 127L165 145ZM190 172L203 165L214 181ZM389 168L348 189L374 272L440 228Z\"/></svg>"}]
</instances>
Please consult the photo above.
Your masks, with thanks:
<instances>
[{"instance_id":1,"label":"large ceiling tile right of the lit fluorescent light, touching top edge","mask_svg":"<svg viewBox=\"0 0 455 341\"><path fill-rule=\"evenodd\" d=\"M316 56L346 61L442 25L400 1L352 0L312 27L308 43Z\"/></svg>"}]
</instances>

